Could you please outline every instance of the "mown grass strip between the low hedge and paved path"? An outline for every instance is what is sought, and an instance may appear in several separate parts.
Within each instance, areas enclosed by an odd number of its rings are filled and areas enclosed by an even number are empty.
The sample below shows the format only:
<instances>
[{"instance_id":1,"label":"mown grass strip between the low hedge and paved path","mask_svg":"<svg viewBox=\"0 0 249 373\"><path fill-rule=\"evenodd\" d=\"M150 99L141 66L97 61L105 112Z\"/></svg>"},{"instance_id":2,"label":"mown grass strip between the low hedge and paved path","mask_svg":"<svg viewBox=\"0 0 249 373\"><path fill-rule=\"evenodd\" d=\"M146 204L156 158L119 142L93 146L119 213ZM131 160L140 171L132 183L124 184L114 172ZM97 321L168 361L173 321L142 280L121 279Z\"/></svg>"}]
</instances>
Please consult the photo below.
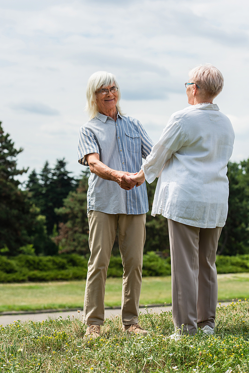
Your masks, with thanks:
<instances>
[{"instance_id":1,"label":"mown grass strip between the low hedge and paved path","mask_svg":"<svg viewBox=\"0 0 249 373\"><path fill-rule=\"evenodd\" d=\"M249 298L249 273L218 275L219 300ZM82 309L86 281L0 284L0 312ZM122 279L108 278L106 306L120 306ZM171 277L144 277L140 304L171 303Z\"/></svg>"}]
</instances>

